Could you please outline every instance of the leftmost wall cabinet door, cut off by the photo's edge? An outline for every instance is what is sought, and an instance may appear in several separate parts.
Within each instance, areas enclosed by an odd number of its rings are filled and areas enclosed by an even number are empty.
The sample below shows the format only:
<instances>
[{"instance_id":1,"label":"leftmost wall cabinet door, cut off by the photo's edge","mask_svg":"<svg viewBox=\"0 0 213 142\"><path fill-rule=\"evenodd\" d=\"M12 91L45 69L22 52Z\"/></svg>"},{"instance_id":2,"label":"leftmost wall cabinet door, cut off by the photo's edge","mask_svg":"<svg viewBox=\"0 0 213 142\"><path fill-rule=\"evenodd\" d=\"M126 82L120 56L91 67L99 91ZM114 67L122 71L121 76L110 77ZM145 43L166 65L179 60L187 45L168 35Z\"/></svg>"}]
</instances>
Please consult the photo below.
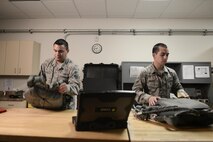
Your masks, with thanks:
<instances>
[{"instance_id":1,"label":"leftmost wall cabinet door, cut off by the photo's edge","mask_svg":"<svg viewBox=\"0 0 213 142\"><path fill-rule=\"evenodd\" d=\"M0 75L4 75L6 41L0 41Z\"/></svg>"}]
</instances>

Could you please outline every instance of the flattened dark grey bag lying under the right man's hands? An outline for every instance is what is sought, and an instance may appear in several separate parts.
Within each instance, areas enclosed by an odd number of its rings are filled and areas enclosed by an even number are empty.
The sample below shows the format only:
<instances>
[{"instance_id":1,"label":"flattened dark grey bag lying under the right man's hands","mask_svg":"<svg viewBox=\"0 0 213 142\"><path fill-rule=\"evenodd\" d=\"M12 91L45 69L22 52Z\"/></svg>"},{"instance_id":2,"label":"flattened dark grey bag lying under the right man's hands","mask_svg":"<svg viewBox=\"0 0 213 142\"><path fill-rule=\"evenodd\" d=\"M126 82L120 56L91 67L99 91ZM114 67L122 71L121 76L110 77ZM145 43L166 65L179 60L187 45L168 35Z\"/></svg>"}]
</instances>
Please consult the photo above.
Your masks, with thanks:
<instances>
[{"instance_id":1,"label":"flattened dark grey bag lying under the right man's hands","mask_svg":"<svg viewBox=\"0 0 213 142\"><path fill-rule=\"evenodd\" d=\"M192 99L161 98L155 106L134 105L134 115L141 120L153 119L175 127L203 127L213 124L213 110Z\"/></svg>"}]
</instances>

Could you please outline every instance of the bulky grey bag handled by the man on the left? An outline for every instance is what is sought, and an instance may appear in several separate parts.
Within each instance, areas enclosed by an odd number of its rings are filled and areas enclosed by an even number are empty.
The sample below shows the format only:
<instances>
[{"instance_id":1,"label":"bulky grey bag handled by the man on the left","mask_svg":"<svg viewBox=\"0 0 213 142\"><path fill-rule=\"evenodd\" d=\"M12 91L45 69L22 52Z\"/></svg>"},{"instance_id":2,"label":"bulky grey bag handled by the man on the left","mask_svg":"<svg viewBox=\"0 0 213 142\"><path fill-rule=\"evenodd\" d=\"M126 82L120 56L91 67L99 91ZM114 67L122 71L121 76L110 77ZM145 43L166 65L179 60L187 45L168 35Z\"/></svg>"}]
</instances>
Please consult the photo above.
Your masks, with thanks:
<instances>
[{"instance_id":1,"label":"bulky grey bag handled by the man on the left","mask_svg":"<svg viewBox=\"0 0 213 142\"><path fill-rule=\"evenodd\" d=\"M30 76L27 81L29 90L25 92L28 103L36 108L63 110L69 107L71 96L60 94L57 90L62 82L49 86L40 76Z\"/></svg>"}]
</instances>

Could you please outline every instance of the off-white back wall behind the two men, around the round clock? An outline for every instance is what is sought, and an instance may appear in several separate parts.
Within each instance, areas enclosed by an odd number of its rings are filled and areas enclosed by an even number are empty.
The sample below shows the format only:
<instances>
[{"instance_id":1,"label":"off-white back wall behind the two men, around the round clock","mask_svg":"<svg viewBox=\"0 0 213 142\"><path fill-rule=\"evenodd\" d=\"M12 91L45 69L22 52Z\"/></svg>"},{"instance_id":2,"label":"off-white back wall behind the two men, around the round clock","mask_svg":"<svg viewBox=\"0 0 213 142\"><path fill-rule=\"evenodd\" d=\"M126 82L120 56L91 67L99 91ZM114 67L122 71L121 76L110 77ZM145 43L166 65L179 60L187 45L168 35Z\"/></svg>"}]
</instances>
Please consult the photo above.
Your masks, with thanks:
<instances>
[{"instance_id":1,"label":"off-white back wall behind the two men, around the round clock","mask_svg":"<svg viewBox=\"0 0 213 142\"><path fill-rule=\"evenodd\" d=\"M0 29L213 29L213 20L139 20L139 19L25 19L1 20ZM28 39L41 43L41 60L52 57L52 44L63 33L1 33L0 40ZM91 47L98 42L100 54ZM85 63L117 63L122 61L152 61L151 50L164 42L170 50L169 61L211 61L213 36L133 36L133 35L71 35L67 37L70 57L82 70ZM81 72L81 78L83 73ZM1 80L0 80L1 81ZM16 85L14 85L16 87ZM1 87L1 85L0 85Z\"/></svg>"}]
</instances>

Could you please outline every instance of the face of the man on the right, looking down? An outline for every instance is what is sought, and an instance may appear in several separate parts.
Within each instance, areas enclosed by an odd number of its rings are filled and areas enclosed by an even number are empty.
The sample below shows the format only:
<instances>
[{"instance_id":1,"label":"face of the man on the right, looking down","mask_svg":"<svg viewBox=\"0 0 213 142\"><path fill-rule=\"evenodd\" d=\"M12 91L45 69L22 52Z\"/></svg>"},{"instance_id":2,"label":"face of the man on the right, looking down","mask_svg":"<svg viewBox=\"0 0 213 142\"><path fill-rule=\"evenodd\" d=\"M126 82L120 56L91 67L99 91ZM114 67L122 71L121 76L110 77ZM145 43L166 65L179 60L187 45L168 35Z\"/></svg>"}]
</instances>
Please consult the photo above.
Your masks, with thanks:
<instances>
[{"instance_id":1,"label":"face of the man on the right, looking down","mask_svg":"<svg viewBox=\"0 0 213 142\"><path fill-rule=\"evenodd\" d=\"M153 54L154 62L158 65L164 66L167 63L169 50L164 47L159 47L159 51Z\"/></svg>"}]
</instances>

